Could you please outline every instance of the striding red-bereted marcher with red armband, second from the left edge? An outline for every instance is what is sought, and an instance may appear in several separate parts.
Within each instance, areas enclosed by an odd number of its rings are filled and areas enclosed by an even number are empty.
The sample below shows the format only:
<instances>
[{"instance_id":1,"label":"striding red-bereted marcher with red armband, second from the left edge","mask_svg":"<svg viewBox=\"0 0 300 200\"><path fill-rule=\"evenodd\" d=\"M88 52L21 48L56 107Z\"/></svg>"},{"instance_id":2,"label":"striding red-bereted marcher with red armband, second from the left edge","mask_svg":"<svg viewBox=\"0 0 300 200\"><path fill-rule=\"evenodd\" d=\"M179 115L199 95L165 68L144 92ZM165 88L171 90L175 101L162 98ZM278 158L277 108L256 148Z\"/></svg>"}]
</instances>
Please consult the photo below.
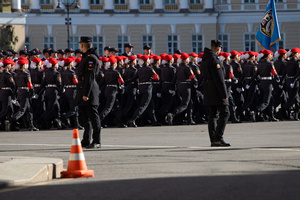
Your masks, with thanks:
<instances>
[{"instance_id":1,"label":"striding red-bereted marcher with red armband, second from the left edge","mask_svg":"<svg viewBox=\"0 0 300 200\"><path fill-rule=\"evenodd\" d=\"M33 125L33 114L30 104L30 99L34 95L33 86L31 83L30 74L27 72L28 70L28 60L27 58L21 57L18 60L18 65L20 68L16 72L15 76L15 92L18 90L18 102L20 103L19 110L13 115L10 121L5 121L5 129L6 131L10 131L10 126L15 126L15 122L17 122L21 117L26 117L29 122L29 130L30 131L38 131L36 127Z\"/></svg>"}]
</instances>

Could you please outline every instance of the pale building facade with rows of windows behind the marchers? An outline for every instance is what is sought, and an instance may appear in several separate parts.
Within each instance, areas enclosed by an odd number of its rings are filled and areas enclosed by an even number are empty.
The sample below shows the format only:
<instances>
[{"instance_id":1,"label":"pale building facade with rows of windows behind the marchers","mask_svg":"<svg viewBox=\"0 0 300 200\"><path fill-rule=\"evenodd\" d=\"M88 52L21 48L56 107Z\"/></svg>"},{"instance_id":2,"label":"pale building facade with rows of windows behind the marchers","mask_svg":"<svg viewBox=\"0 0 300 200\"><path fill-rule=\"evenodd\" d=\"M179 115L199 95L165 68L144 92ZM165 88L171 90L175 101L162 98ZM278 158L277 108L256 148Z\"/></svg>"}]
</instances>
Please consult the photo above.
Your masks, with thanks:
<instances>
[{"instance_id":1,"label":"pale building facade with rows of windows behind the marchers","mask_svg":"<svg viewBox=\"0 0 300 200\"><path fill-rule=\"evenodd\" d=\"M15 27L16 50L64 49L68 46L64 4L73 2L70 47L78 48L80 36L87 35L100 53L107 45L123 51L129 42L135 53L148 44L160 54L175 49L200 53L216 38L223 41L224 51L259 51L255 34L268 0L12 0L11 12L0 13L0 24ZM280 48L300 47L300 0L275 2Z\"/></svg>"}]
</instances>

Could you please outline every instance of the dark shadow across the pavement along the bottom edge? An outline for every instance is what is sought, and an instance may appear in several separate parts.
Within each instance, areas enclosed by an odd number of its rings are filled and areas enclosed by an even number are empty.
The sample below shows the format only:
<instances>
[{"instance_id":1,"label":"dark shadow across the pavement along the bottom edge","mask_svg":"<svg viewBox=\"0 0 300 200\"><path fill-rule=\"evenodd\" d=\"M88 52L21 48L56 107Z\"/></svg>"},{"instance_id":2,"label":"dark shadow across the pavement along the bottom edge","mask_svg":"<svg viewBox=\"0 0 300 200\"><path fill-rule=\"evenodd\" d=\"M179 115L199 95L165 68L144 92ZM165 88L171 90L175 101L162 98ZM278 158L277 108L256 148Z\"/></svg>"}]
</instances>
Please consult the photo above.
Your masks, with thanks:
<instances>
[{"instance_id":1,"label":"dark shadow across the pavement along the bottom edge","mask_svg":"<svg viewBox=\"0 0 300 200\"><path fill-rule=\"evenodd\" d=\"M56 185L0 190L0 199L298 200L299 188L300 171L274 171L113 181L73 179Z\"/></svg>"}]
</instances>

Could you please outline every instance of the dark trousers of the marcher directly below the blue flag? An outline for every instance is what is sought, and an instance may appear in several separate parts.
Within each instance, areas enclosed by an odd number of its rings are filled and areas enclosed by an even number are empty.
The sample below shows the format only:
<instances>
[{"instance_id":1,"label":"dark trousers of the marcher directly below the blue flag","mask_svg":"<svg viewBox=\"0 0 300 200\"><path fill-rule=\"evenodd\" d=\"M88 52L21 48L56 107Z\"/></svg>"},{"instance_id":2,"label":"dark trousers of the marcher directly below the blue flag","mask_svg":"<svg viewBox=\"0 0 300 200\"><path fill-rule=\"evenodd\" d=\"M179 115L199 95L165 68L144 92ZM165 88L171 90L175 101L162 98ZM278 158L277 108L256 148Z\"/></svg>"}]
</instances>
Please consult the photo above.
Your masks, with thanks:
<instances>
[{"instance_id":1,"label":"dark trousers of the marcher directly below the blue flag","mask_svg":"<svg viewBox=\"0 0 300 200\"><path fill-rule=\"evenodd\" d=\"M259 83L259 91L260 102L256 109L262 112L268 107L272 97L272 80L261 80Z\"/></svg>"}]
</instances>

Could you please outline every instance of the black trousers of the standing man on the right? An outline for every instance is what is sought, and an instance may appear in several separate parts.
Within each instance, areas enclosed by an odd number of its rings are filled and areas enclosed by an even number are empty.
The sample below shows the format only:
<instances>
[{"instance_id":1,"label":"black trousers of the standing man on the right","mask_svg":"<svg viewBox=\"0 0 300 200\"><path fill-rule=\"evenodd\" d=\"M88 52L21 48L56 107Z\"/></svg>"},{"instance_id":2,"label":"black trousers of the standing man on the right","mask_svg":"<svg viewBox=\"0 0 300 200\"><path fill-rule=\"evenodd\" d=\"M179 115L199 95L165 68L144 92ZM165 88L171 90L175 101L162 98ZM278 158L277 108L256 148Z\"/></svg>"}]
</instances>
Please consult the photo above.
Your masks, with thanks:
<instances>
[{"instance_id":1,"label":"black trousers of the standing man on the right","mask_svg":"<svg viewBox=\"0 0 300 200\"><path fill-rule=\"evenodd\" d=\"M227 105L210 105L208 115L208 133L211 142L223 140L224 130L229 118Z\"/></svg>"}]
</instances>

